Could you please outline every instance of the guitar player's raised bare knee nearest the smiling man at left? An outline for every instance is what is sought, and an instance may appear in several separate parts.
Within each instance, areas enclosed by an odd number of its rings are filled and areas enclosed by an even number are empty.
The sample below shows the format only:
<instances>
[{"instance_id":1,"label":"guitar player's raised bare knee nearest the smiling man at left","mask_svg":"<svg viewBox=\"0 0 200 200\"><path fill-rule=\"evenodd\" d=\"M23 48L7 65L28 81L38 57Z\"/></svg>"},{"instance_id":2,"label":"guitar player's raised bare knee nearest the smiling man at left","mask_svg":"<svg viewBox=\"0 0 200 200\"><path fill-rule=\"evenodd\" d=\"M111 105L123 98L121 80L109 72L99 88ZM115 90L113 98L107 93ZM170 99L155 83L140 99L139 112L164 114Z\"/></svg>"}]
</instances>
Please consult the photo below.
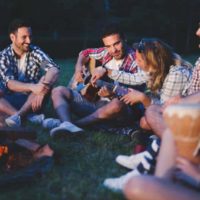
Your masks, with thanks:
<instances>
[{"instance_id":1,"label":"guitar player's raised bare knee nearest the smiling man at left","mask_svg":"<svg viewBox=\"0 0 200 200\"><path fill-rule=\"evenodd\" d=\"M51 92L51 98L53 101L56 101L58 98L70 98L71 94L68 88L64 86L58 86L54 88Z\"/></svg>"}]
</instances>

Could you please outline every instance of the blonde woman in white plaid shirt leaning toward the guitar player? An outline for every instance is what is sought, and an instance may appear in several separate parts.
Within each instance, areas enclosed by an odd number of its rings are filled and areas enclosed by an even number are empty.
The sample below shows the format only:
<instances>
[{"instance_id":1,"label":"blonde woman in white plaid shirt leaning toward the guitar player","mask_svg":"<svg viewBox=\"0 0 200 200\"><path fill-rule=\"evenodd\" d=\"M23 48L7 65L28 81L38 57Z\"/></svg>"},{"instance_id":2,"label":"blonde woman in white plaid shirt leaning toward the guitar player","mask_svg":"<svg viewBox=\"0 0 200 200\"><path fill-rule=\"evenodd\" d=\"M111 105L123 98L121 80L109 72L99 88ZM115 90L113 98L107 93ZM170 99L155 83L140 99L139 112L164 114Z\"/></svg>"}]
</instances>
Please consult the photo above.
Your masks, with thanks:
<instances>
[{"instance_id":1,"label":"blonde woman in white plaid shirt leaning toward the guitar player","mask_svg":"<svg viewBox=\"0 0 200 200\"><path fill-rule=\"evenodd\" d=\"M148 81L150 91L145 94L129 89L121 101L130 105L141 102L148 109L151 104L163 104L173 96L185 94L192 75L192 66L189 63L183 61L167 44L159 39L142 39L135 48L138 66L150 74ZM152 173L152 165L155 163L158 150L159 139L156 138L151 142L150 148L143 153L143 156L138 156L139 158L135 160L131 172L119 178L106 179L104 185L113 190L122 190L130 177Z\"/></svg>"}]
</instances>

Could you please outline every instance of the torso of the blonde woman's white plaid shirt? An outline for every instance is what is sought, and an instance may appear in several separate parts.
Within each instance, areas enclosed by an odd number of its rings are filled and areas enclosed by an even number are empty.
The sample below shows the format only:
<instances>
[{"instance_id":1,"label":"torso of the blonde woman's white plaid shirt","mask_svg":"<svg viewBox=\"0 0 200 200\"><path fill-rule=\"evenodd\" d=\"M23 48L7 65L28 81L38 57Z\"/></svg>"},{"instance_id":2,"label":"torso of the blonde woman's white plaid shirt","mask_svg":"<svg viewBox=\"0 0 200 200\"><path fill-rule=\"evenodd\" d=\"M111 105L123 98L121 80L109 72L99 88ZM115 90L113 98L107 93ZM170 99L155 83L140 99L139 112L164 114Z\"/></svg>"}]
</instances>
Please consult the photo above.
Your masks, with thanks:
<instances>
[{"instance_id":1,"label":"torso of the blonde woman's white plaid shirt","mask_svg":"<svg viewBox=\"0 0 200 200\"><path fill-rule=\"evenodd\" d=\"M162 104L176 95L185 95L191 76L192 68L172 65L161 90L157 95L152 95L152 103Z\"/></svg>"}]
</instances>

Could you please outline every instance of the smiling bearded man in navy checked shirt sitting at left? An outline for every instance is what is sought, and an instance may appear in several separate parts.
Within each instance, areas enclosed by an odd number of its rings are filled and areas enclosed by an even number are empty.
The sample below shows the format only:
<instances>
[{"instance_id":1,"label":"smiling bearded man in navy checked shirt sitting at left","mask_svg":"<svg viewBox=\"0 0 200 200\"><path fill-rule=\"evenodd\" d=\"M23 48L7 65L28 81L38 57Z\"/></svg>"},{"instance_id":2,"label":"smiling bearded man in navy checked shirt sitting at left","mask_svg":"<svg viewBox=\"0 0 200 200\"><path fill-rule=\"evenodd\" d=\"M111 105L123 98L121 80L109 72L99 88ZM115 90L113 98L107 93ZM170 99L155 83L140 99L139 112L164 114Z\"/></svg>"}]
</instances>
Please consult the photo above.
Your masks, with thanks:
<instances>
[{"instance_id":1,"label":"smiling bearded man in navy checked shirt sitting at left","mask_svg":"<svg viewBox=\"0 0 200 200\"><path fill-rule=\"evenodd\" d=\"M13 20L9 36L12 44L0 52L0 112L9 116L5 123L10 127L21 126L21 118L26 116L41 123L43 114L28 114L41 110L59 68L39 47L31 45L32 31L26 21Z\"/></svg>"}]
</instances>

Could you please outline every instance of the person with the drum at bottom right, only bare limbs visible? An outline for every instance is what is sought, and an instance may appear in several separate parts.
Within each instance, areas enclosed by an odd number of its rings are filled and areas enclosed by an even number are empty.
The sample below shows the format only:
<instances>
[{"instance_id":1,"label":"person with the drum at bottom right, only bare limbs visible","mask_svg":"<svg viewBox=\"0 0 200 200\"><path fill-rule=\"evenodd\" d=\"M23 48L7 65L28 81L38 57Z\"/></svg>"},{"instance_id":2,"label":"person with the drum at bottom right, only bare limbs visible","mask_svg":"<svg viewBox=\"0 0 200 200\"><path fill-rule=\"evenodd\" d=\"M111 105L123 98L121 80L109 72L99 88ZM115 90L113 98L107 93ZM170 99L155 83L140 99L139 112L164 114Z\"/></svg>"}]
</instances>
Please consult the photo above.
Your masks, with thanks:
<instances>
[{"instance_id":1,"label":"person with the drum at bottom right, only bare limbs visible","mask_svg":"<svg viewBox=\"0 0 200 200\"><path fill-rule=\"evenodd\" d=\"M200 163L178 157L174 137L165 130L155 175L132 177L123 192L128 200L199 200Z\"/></svg>"}]
</instances>

